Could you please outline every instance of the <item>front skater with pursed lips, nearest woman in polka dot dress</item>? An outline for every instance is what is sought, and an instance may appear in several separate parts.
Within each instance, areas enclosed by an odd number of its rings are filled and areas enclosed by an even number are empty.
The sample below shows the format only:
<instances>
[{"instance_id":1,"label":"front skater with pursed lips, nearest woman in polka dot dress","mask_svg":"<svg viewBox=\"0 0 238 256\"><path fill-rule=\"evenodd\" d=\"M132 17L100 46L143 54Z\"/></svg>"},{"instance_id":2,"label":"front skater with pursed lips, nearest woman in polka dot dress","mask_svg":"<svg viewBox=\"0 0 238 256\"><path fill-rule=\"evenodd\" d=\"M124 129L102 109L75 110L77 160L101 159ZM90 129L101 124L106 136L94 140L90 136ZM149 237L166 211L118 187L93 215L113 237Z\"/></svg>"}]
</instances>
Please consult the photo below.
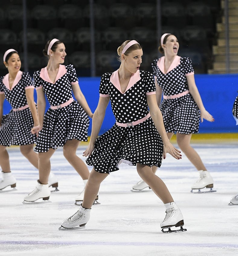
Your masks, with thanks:
<instances>
[{"instance_id":1,"label":"front skater with pursed lips, nearest woman in polka dot dress","mask_svg":"<svg viewBox=\"0 0 238 256\"><path fill-rule=\"evenodd\" d=\"M183 216L163 181L152 172L152 166L160 167L166 153L180 159L178 149L170 143L163 125L163 117L155 96L153 75L140 71L142 48L135 40L127 40L118 47L121 61L118 70L105 73L100 82L100 99L94 112L92 133L84 156L92 165L80 209L62 222L63 228L83 228L90 216L90 209L100 183L113 171L119 170L120 162L135 165L138 174L162 200L166 217L160 224L162 231L177 232L170 227L185 231ZM114 126L98 136L109 103L116 118ZM149 110L148 110L149 107Z\"/></svg>"}]
</instances>

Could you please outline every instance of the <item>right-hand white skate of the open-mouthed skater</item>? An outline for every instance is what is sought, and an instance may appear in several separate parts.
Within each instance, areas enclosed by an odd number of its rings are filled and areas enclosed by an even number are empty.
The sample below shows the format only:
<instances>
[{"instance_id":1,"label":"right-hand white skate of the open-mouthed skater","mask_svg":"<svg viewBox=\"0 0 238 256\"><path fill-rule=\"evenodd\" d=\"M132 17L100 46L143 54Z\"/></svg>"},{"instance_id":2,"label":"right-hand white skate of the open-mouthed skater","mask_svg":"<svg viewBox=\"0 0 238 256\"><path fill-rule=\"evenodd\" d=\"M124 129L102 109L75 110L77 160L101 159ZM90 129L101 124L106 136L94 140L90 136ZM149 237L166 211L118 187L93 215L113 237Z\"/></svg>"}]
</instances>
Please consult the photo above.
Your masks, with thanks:
<instances>
[{"instance_id":1,"label":"right-hand white skate of the open-mouthed skater","mask_svg":"<svg viewBox=\"0 0 238 256\"><path fill-rule=\"evenodd\" d=\"M216 190L212 190L213 188L213 178L211 177L211 174L209 171L198 171L200 178L198 181L192 185L192 193L208 193L208 192L216 192ZM210 188L210 190L203 190L201 191L202 188ZM193 190L197 189L197 192L194 192Z\"/></svg>"}]
</instances>

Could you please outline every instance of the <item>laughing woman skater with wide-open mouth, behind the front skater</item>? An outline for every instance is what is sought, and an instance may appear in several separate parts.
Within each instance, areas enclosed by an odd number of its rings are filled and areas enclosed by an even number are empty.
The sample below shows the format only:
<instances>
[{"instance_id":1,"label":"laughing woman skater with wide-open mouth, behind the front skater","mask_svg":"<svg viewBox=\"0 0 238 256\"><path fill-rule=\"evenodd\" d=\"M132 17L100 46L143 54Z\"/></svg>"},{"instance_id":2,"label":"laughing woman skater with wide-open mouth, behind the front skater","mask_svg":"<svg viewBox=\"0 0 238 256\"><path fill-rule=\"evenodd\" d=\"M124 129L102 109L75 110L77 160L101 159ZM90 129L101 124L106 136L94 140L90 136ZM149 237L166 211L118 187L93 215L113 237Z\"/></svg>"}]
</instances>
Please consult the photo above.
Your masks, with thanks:
<instances>
[{"instance_id":1,"label":"laughing woman skater with wide-open mouth, behind the front skater","mask_svg":"<svg viewBox=\"0 0 238 256\"><path fill-rule=\"evenodd\" d=\"M200 156L190 146L192 133L197 133L200 118L214 122L214 118L205 109L198 88L195 84L194 69L191 59L178 56L179 42L173 34L163 34L160 40L160 59L152 63L153 74L156 82L157 103L163 115L164 126L169 139L176 133L178 146L198 170L199 179L192 185L194 189L210 188L214 192L213 178L207 171ZM156 167L153 167L154 173ZM141 180L132 187L133 190L142 190L149 187ZM192 192L191 191L191 192Z\"/></svg>"}]
</instances>

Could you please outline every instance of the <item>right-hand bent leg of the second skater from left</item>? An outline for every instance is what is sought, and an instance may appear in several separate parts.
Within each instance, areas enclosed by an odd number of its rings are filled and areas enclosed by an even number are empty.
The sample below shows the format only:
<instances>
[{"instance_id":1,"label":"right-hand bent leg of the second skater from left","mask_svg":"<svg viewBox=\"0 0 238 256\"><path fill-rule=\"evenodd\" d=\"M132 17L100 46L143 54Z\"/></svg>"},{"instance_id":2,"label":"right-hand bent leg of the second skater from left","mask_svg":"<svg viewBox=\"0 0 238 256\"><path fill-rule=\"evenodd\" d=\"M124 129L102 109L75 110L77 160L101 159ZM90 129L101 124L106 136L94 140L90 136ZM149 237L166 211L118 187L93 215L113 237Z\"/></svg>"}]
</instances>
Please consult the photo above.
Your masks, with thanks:
<instances>
[{"instance_id":1,"label":"right-hand bent leg of the second skater from left","mask_svg":"<svg viewBox=\"0 0 238 256\"><path fill-rule=\"evenodd\" d=\"M87 180L89 176L88 168L84 161L76 155L79 143L80 141L76 139L68 140L63 147L63 152L67 161L75 168L82 179Z\"/></svg>"}]
</instances>

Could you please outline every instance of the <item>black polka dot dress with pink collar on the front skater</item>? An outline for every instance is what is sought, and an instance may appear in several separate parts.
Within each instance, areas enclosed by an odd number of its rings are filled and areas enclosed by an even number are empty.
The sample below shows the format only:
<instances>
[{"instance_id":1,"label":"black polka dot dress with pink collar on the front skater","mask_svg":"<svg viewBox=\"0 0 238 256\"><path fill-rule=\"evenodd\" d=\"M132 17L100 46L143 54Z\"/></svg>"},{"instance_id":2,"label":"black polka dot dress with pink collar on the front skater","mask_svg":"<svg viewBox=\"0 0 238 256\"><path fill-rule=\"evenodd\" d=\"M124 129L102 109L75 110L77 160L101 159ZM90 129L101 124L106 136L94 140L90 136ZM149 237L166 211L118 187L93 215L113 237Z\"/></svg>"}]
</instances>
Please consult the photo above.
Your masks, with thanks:
<instances>
[{"instance_id":1,"label":"black polka dot dress with pink collar on the front skater","mask_svg":"<svg viewBox=\"0 0 238 256\"><path fill-rule=\"evenodd\" d=\"M111 82L112 74L118 76L118 71L101 77L99 91L101 97L110 97L116 122L129 123L145 117L149 113L146 97L156 90L153 75L138 70L134 74L137 79L131 78L131 85L122 93L118 84L116 87ZM121 162L160 167L162 155L162 139L149 117L135 126L121 127L115 123L110 130L98 136L94 151L86 162L97 172L110 173L119 170Z\"/></svg>"}]
</instances>

